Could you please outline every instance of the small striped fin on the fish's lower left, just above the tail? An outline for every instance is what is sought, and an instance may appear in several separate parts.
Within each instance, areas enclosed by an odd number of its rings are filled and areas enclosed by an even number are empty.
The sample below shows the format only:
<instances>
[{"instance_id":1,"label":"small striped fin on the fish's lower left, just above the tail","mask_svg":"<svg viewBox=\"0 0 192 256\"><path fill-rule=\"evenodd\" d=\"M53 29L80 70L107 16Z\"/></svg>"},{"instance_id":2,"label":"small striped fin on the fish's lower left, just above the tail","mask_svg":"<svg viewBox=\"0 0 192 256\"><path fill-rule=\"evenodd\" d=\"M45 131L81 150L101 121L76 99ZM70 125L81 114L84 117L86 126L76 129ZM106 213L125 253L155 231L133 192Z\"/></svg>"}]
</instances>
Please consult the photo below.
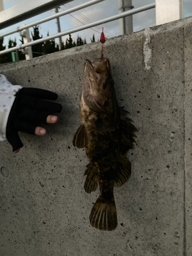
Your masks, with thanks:
<instances>
[{"instance_id":1,"label":"small striped fin on the fish's lower left, just above the tail","mask_svg":"<svg viewBox=\"0 0 192 256\"><path fill-rule=\"evenodd\" d=\"M98 187L97 181L97 169L96 167L89 163L86 171L84 172L84 176L87 175L86 181L84 182L84 190L91 194L91 192L95 191Z\"/></svg>"}]
</instances>

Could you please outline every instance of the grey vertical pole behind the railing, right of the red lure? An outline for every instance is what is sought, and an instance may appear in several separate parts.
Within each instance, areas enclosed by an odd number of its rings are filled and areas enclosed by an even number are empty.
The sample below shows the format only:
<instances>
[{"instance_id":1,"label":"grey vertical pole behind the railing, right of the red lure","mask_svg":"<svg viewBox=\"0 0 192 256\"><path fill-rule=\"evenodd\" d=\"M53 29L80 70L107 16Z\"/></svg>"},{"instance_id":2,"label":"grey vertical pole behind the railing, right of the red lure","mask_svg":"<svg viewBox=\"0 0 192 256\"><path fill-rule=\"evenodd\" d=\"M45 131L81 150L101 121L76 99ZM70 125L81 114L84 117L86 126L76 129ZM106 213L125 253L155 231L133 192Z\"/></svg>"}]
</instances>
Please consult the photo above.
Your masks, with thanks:
<instances>
[{"instance_id":1,"label":"grey vertical pole behind the railing, right of the red lure","mask_svg":"<svg viewBox=\"0 0 192 256\"><path fill-rule=\"evenodd\" d=\"M132 10L132 0L118 0L119 13L124 11ZM127 16L119 19L119 34L129 34L133 32L133 16Z\"/></svg>"}]
</instances>

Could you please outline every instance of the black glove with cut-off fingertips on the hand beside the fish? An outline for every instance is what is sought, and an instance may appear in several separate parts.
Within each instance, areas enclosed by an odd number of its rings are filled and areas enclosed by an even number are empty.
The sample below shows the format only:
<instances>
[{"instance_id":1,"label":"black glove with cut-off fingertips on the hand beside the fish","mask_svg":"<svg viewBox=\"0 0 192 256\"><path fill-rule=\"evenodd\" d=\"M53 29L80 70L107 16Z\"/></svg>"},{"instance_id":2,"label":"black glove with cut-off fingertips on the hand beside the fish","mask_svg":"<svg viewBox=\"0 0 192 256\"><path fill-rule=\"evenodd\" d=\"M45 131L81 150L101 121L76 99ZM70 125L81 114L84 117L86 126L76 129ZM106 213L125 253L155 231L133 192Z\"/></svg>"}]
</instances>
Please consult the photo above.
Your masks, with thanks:
<instances>
[{"instance_id":1,"label":"black glove with cut-off fingertips on the hand beside the fish","mask_svg":"<svg viewBox=\"0 0 192 256\"><path fill-rule=\"evenodd\" d=\"M34 134L36 126L46 123L48 115L61 112L61 104L46 101L57 97L56 93L37 88L22 88L17 92L6 127L6 137L13 152L23 147L18 131Z\"/></svg>"}]
</instances>

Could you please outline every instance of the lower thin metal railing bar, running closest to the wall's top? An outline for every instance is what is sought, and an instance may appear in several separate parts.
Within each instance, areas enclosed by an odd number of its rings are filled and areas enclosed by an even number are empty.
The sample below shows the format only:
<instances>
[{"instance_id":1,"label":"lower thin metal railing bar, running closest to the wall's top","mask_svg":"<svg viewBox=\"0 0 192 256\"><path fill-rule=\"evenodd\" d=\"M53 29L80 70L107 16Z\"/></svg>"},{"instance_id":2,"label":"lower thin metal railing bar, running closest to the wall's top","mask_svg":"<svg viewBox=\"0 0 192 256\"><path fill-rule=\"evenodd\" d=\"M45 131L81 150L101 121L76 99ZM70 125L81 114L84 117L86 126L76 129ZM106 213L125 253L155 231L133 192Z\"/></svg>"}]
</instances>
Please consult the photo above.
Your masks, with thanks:
<instances>
[{"instance_id":1,"label":"lower thin metal railing bar, running closest to the wall's top","mask_svg":"<svg viewBox=\"0 0 192 256\"><path fill-rule=\"evenodd\" d=\"M104 23L112 22L113 20L123 18L123 17L126 17L126 16L130 16L130 15L133 15L133 14L136 14L136 13L139 13L139 12L143 12L143 11L146 11L146 10L150 10L150 9L153 9L153 8L155 8L155 4L146 5L146 6L143 6L143 7L140 7L140 8L125 11L125 12L122 12L120 14L114 15L112 17L104 18L102 20L98 20L98 22L93 22L93 23L90 23L88 25L84 25L84 26L81 26L81 27L78 27L78 28L75 28L75 29L71 29L71 30L68 30L68 31L65 31L65 32L60 32L60 33L57 33L55 35L47 36L45 38L40 38L40 39L37 39L35 41L28 42L27 44L24 44L24 45L15 46L15 47L9 48L7 50L0 51L0 55L5 54L5 53L9 53L9 52L13 52L15 50L23 49L23 48L26 48L26 47L29 47L29 46L37 45L40 42L45 42L45 41L57 38L59 36L72 34L72 33L75 33L75 32L78 32L78 31L81 31L81 30L84 30L84 29L88 29L88 28L95 27L95 26L98 26L98 25L101 25L101 24L104 24Z\"/></svg>"}]
</instances>

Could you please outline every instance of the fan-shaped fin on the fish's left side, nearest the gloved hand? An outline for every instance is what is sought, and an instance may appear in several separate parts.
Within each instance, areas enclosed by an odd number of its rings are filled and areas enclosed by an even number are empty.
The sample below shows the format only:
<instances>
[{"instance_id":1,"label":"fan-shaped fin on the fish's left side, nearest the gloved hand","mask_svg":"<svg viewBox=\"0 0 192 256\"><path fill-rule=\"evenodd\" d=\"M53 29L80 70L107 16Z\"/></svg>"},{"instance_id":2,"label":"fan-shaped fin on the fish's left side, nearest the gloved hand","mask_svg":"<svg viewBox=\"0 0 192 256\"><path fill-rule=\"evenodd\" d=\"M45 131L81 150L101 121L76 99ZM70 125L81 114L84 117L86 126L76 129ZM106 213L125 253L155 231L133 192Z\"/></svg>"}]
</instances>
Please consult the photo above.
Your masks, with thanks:
<instances>
[{"instance_id":1,"label":"fan-shaped fin on the fish's left side, nearest the gloved hand","mask_svg":"<svg viewBox=\"0 0 192 256\"><path fill-rule=\"evenodd\" d=\"M80 125L76 131L76 133L73 136L73 145L77 146L78 148L83 148L87 146L88 144L88 138L86 129L83 125Z\"/></svg>"}]
</instances>

